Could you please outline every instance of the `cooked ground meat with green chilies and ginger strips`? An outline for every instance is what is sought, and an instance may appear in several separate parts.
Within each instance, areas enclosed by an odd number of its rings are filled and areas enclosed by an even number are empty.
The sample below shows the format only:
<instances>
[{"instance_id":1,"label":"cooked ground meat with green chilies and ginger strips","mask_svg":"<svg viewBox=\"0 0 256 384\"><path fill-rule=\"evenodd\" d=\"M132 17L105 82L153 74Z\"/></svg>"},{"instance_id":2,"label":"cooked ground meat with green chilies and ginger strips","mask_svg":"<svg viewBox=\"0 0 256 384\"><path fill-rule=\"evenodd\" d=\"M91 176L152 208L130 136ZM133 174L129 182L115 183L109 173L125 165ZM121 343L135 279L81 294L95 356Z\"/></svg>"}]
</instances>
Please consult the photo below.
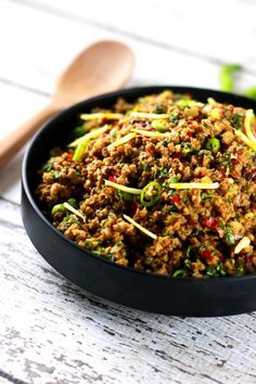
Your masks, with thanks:
<instances>
[{"instance_id":1,"label":"cooked ground meat with green chilies and ginger strips","mask_svg":"<svg viewBox=\"0 0 256 384\"><path fill-rule=\"evenodd\" d=\"M80 118L39 170L36 195L59 231L143 272L256 272L252 110L166 90Z\"/></svg>"}]
</instances>

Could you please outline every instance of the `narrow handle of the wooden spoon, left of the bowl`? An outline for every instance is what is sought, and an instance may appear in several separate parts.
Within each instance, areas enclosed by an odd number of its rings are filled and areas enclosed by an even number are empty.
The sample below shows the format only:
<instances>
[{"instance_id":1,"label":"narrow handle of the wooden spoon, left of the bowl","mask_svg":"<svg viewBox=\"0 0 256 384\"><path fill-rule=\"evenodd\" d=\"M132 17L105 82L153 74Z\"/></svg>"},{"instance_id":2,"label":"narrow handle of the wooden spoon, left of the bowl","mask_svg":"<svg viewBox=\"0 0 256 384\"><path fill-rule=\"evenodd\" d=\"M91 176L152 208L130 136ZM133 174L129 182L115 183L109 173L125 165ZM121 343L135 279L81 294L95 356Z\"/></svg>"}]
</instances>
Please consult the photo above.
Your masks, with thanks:
<instances>
[{"instance_id":1,"label":"narrow handle of the wooden spoon, left of the bowl","mask_svg":"<svg viewBox=\"0 0 256 384\"><path fill-rule=\"evenodd\" d=\"M59 111L60 108L57 108L57 106L49 104L28 121L3 138L0 145L0 169L11 162L15 154L37 131L40 125Z\"/></svg>"}]
</instances>

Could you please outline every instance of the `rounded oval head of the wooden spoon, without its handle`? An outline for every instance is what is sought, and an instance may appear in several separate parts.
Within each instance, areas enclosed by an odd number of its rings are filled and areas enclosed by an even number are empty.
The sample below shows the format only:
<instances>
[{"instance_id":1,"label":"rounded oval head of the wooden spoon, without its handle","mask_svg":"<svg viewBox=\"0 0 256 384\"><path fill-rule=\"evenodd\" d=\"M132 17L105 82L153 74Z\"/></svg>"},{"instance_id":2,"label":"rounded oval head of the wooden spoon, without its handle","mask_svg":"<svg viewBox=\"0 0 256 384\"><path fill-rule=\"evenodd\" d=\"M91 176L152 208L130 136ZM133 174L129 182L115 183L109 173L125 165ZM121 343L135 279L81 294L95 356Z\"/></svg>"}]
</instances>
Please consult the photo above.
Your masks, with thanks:
<instances>
[{"instance_id":1,"label":"rounded oval head of the wooden spoon, without its handle","mask_svg":"<svg viewBox=\"0 0 256 384\"><path fill-rule=\"evenodd\" d=\"M53 103L66 107L85 98L121 88L130 77L135 55L115 40L90 46L71 63L56 84Z\"/></svg>"}]
</instances>

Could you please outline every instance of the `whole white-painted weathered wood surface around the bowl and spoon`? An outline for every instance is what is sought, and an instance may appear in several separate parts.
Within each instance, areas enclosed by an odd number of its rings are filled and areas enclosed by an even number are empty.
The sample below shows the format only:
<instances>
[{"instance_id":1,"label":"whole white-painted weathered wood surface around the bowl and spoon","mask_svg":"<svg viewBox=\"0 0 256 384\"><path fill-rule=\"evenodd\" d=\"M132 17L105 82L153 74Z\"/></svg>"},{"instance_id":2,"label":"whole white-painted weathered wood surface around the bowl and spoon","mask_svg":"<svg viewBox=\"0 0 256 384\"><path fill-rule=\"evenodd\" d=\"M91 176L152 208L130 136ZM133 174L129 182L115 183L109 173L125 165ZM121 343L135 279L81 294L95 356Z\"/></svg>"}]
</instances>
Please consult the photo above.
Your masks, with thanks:
<instances>
[{"instance_id":1,"label":"whole white-painted weathered wood surface around the bowl and spoon","mask_svg":"<svg viewBox=\"0 0 256 384\"><path fill-rule=\"evenodd\" d=\"M256 85L255 0L0 0L0 138L101 38L137 56L129 86ZM55 272L20 214L23 151L0 172L0 383L256 383L256 313L178 318L103 300ZM252 292L252 295L255 294Z\"/></svg>"}]
</instances>

